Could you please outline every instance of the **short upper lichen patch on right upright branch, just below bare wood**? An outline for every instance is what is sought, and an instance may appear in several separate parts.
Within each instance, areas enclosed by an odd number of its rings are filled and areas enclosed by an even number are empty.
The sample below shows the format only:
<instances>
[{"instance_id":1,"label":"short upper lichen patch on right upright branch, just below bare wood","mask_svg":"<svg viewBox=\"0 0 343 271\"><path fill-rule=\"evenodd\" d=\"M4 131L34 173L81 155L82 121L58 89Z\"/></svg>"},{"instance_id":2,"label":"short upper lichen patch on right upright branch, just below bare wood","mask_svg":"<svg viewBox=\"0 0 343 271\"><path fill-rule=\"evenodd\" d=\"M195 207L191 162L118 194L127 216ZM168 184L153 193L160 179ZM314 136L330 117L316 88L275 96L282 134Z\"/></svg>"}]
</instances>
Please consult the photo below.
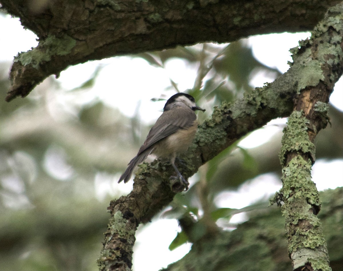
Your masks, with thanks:
<instances>
[{"instance_id":1,"label":"short upper lichen patch on right upright branch, just below bare wood","mask_svg":"<svg viewBox=\"0 0 343 271\"><path fill-rule=\"evenodd\" d=\"M314 159L315 145L310 141L307 133L307 125L309 121L303 117L302 112L293 111L288 118L287 127L284 128L284 136L282 138L282 148L279 155L281 164L285 162L285 155L288 152L301 151L309 153Z\"/></svg>"}]
</instances>

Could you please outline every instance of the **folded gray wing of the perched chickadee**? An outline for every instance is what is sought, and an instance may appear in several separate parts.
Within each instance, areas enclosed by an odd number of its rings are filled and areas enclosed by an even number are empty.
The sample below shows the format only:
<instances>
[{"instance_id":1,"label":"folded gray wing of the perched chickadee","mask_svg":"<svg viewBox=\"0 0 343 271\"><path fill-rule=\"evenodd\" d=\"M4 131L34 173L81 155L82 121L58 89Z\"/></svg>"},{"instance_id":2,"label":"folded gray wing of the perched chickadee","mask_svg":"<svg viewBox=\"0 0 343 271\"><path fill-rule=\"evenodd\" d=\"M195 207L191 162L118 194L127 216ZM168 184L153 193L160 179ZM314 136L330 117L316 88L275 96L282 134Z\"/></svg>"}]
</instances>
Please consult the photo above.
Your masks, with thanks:
<instances>
[{"instance_id":1,"label":"folded gray wing of the perched chickadee","mask_svg":"<svg viewBox=\"0 0 343 271\"><path fill-rule=\"evenodd\" d=\"M151 128L137 155L177 130L192 126L196 118L197 115L188 107L178 107L174 110L164 111Z\"/></svg>"}]
</instances>

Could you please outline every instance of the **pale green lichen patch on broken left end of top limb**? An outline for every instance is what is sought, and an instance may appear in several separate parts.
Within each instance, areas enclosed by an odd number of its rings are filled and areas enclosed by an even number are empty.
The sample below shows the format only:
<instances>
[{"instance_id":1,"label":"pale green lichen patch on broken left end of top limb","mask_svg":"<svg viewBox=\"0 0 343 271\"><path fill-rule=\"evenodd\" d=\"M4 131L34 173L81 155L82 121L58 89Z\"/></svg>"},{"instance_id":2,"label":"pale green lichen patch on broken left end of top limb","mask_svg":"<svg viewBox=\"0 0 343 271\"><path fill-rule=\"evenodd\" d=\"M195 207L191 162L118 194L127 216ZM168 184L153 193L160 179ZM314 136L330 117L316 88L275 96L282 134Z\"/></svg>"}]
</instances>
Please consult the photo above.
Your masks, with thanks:
<instances>
[{"instance_id":1,"label":"pale green lichen patch on broken left end of top limb","mask_svg":"<svg viewBox=\"0 0 343 271\"><path fill-rule=\"evenodd\" d=\"M76 40L70 36L63 35L57 38L55 35L48 35L36 48L19 53L14 62L20 62L23 66L30 64L38 69L42 62L50 61L52 56L68 55L75 45Z\"/></svg>"}]
</instances>

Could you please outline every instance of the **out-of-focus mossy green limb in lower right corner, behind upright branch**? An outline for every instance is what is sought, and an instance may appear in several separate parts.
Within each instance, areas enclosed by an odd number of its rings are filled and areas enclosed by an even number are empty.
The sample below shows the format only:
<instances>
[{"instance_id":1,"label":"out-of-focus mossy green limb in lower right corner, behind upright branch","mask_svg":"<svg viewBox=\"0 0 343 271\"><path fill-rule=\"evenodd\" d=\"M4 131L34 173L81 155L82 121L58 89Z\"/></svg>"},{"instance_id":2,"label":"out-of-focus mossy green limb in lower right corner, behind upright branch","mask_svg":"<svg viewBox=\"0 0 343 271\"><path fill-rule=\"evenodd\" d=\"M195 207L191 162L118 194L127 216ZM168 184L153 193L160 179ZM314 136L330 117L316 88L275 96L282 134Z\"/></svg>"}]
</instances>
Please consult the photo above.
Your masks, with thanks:
<instances>
[{"instance_id":1,"label":"out-of-focus mossy green limb in lower right corner, behind upright branch","mask_svg":"<svg viewBox=\"0 0 343 271\"><path fill-rule=\"evenodd\" d=\"M327 239L332 271L342 270L342 196L342 187L320 192L323 208L318 216ZM284 236L285 219L280 209L274 205L246 211L249 220L234 231L223 231L203 239L193 245L184 258L162 270L292 270Z\"/></svg>"}]
</instances>

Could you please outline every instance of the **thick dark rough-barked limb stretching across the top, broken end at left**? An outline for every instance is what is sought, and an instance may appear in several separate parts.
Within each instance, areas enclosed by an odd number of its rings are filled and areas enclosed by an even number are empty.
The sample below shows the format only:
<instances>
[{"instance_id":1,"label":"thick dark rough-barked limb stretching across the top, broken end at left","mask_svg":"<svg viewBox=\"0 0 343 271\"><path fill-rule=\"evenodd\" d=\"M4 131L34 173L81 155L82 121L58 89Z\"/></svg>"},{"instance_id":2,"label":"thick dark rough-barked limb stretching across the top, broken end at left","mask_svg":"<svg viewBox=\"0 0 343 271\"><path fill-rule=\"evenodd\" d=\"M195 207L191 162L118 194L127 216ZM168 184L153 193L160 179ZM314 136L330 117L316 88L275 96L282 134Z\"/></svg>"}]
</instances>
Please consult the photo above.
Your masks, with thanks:
<instances>
[{"instance_id":1,"label":"thick dark rough-barked limb stretching across the top, broken end at left","mask_svg":"<svg viewBox=\"0 0 343 271\"><path fill-rule=\"evenodd\" d=\"M307 31L338 0L20 1L1 0L39 37L14 59L7 101L26 96L70 65L200 42Z\"/></svg>"}]
</instances>

